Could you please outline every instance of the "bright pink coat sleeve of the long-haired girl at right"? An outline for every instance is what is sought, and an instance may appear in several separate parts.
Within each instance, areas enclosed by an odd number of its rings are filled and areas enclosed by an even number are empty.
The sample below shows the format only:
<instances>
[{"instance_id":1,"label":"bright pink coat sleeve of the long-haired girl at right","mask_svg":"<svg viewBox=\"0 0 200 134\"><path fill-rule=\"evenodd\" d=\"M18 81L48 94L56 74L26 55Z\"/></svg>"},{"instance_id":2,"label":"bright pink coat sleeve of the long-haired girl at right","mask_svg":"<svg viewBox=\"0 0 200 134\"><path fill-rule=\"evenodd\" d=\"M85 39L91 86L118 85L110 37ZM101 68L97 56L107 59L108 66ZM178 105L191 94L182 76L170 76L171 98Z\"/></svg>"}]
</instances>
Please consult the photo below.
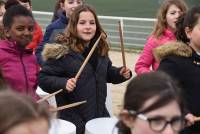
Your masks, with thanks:
<instances>
[{"instance_id":1,"label":"bright pink coat sleeve of the long-haired girl at right","mask_svg":"<svg viewBox=\"0 0 200 134\"><path fill-rule=\"evenodd\" d=\"M145 72L150 72L150 67L153 64L153 49L157 46L155 39L150 37L147 40L147 43L144 46L142 53L139 56L135 64L135 72L136 74L141 74Z\"/></svg>"}]
</instances>

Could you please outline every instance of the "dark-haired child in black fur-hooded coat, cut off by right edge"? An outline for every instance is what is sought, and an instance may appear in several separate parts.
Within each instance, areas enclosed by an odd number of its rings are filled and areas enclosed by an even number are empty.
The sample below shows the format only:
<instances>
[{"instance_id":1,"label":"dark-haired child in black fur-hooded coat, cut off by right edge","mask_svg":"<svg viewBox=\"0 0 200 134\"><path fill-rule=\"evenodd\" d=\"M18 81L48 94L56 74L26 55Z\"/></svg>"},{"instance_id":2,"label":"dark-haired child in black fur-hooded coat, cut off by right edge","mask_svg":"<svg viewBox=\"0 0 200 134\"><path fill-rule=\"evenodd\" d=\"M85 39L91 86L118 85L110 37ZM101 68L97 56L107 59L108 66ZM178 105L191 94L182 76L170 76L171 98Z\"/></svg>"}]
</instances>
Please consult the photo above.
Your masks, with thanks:
<instances>
[{"instance_id":1,"label":"dark-haired child in black fur-hooded coat, cut off by right edge","mask_svg":"<svg viewBox=\"0 0 200 134\"><path fill-rule=\"evenodd\" d=\"M184 90L187 103L186 118L194 124L200 116L200 6L190 9L177 23L177 39L155 50L161 60L158 70L163 70L177 79ZM199 134L200 123L185 130L186 134Z\"/></svg>"}]
</instances>

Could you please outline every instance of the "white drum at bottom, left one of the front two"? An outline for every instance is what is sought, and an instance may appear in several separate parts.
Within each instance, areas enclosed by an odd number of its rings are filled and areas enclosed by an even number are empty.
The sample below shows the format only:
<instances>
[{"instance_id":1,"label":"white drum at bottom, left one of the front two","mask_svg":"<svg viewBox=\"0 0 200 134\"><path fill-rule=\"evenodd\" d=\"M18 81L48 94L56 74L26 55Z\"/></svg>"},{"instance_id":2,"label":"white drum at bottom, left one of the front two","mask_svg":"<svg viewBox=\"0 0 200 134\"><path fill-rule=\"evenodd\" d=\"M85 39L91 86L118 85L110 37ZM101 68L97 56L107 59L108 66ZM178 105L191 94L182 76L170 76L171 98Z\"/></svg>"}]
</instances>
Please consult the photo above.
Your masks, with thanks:
<instances>
[{"instance_id":1,"label":"white drum at bottom, left one of the front two","mask_svg":"<svg viewBox=\"0 0 200 134\"><path fill-rule=\"evenodd\" d=\"M49 134L76 134L76 126L69 121L53 119Z\"/></svg>"}]
</instances>

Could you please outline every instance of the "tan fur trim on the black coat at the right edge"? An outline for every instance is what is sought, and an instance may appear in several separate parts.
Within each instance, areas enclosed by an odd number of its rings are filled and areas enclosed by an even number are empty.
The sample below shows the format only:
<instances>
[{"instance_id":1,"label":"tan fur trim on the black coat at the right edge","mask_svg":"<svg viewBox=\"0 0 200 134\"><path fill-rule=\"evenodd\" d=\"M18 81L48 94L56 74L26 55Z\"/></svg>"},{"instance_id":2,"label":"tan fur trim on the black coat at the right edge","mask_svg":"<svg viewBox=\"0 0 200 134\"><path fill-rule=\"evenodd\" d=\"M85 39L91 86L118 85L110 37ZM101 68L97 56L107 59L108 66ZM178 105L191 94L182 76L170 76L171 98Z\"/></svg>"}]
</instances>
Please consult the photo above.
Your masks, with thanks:
<instances>
[{"instance_id":1,"label":"tan fur trim on the black coat at the right edge","mask_svg":"<svg viewBox=\"0 0 200 134\"><path fill-rule=\"evenodd\" d=\"M161 61L169 55L191 57L192 48L183 42L170 41L162 46L155 48L153 50L153 55L157 61Z\"/></svg>"}]
</instances>

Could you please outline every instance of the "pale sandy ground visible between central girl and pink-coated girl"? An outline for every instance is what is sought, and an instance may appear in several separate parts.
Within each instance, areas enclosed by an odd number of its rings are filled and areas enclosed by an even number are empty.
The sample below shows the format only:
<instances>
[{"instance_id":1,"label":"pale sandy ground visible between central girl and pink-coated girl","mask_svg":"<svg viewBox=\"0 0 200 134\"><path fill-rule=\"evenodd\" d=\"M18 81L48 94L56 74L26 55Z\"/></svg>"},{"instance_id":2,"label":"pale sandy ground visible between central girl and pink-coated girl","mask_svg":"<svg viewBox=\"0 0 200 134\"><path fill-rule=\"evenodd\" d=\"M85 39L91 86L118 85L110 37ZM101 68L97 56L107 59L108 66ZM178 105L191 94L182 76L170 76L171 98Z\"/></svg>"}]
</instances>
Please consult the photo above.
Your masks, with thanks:
<instances>
[{"instance_id":1,"label":"pale sandy ground visible between central girl and pink-coated girl","mask_svg":"<svg viewBox=\"0 0 200 134\"><path fill-rule=\"evenodd\" d=\"M114 66L117 66L117 67L122 66L122 58L121 58L122 56L120 52L110 51L109 56ZM126 53L125 57L126 57L127 67L131 69L133 76L135 76L135 72L133 69L134 69L135 62L138 58L138 54ZM111 85L112 109L113 109L114 115L118 115L121 109L121 106L123 103L123 96L124 96L127 83L128 81L121 84L117 84L117 85Z\"/></svg>"}]
</instances>

